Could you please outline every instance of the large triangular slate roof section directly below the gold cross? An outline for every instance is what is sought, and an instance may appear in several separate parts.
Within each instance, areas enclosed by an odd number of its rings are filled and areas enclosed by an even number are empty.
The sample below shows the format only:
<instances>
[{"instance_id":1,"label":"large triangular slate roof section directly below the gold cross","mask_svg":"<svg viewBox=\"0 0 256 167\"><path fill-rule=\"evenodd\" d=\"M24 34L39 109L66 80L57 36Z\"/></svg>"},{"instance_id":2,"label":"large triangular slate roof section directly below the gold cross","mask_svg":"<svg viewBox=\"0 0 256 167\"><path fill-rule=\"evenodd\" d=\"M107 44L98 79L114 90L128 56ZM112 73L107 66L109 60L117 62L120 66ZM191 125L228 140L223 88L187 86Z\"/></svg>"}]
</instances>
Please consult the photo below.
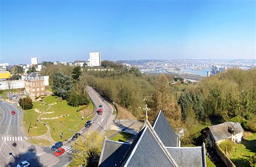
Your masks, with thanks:
<instances>
[{"instance_id":1,"label":"large triangular slate roof section directly below the gold cross","mask_svg":"<svg viewBox=\"0 0 256 167\"><path fill-rule=\"evenodd\" d=\"M136 140L125 154L119 166L177 166L174 159L154 132L149 121L145 121Z\"/></svg>"}]
</instances>

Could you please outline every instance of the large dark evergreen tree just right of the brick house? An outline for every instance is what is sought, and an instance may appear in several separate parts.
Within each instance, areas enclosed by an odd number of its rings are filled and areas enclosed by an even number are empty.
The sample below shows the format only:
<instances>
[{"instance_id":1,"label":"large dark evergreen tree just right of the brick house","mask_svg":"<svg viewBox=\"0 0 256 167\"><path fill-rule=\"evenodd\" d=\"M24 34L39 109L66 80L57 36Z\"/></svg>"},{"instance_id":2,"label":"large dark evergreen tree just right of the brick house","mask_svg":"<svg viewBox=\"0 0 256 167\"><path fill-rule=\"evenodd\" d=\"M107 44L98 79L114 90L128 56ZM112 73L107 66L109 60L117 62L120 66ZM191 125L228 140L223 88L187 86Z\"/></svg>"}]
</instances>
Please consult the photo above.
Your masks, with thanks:
<instances>
[{"instance_id":1,"label":"large dark evergreen tree just right of the brick house","mask_svg":"<svg viewBox=\"0 0 256 167\"><path fill-rule=\"evenodd\" d=\"M68 92L71 88L71 78L60 72L57 72L52 76L53 85L52 92L63 99L68 97Z\"/></svg>"}]
</instances>

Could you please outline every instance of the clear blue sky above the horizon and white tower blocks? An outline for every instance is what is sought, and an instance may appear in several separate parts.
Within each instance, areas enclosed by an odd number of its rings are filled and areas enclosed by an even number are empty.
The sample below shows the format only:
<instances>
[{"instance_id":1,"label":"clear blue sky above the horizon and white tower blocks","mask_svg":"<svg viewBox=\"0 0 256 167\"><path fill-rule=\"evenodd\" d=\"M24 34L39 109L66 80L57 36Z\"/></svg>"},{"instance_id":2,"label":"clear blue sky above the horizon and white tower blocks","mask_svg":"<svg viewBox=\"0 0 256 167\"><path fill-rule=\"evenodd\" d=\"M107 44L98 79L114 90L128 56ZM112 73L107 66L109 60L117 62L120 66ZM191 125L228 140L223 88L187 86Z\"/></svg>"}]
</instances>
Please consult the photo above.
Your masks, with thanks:
<instances>
[{"instance_id":1,"label":"clear blue sky above the horizon and white tower blocks","mask_svg":"<svg viewBox=\"0 0 256 167\"><path fill-rule=\"evenodd\" d=\"M255 1L0 2L0 62L255 59Z\"/></svg>"}]
</instances>

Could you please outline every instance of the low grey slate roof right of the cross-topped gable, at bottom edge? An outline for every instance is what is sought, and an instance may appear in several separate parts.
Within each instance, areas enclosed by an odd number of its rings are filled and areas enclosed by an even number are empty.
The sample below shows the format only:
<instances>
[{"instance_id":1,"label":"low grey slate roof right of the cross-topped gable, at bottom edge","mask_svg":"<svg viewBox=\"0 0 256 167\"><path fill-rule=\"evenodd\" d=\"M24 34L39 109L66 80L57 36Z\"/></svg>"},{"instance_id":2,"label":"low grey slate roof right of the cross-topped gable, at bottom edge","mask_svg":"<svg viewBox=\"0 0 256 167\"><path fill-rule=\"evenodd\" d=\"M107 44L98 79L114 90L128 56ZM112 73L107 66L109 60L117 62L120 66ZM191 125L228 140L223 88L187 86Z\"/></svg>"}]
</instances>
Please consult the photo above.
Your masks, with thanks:
<instances>
[{"instance_id":1,"label":"low grey slate roof right of the cross-topped gable, at bottom edge","mask_svg":"<svg viewBox=\"0 0 256 167\"><path fill-rule=\"evenodd\" d=\"M178 166L206 166L204 146L202 147L166 147Z\"/></svg>"}]
</instances>

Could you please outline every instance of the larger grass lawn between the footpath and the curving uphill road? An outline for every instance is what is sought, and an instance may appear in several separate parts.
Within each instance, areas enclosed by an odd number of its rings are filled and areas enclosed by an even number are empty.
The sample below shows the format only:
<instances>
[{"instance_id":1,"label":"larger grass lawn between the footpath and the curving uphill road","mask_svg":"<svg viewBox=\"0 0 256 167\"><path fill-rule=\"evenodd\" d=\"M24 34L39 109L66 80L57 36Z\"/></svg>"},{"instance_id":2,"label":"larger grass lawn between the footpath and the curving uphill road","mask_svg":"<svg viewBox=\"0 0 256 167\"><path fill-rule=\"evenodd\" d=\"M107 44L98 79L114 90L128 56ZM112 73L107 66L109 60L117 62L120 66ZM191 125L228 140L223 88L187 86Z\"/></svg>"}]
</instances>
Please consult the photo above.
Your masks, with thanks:
<instances>
[{"instance_id":1,"label":"larger grass lawn between the footpath and the curving uphill road","mask_svg":"<svg viewBox=\"0 0 256 167\"><path fill-rule=\"evenodd\" d=\"M56 97L49 96L45 98L45 102L47 100L51 101L53 103L53 100L56 100ZM52 100L53 99L53 100ZM47 103L47 102L46 102ZM69 114L68 117L59 118L59 119L52 119L52 120L43 120L46 124L48 124L51 127L51 136L52 139L57 141L65 141L65 139L68 139L69 137L72 137L75 132L72 132L69 129L75 130L78 132L81 128L84 127L85 122L87 120L92 119L93 115L91 115L89 118L85 118L84 120L81 119L82 115L79 112L77 112L80 108L84 107L72 107L68 105L68 102L66 100L62 100L60 102L57 102L57 104L54 104L51 106L50 110L48 112L54 112L51 114L43 114L41 118L44 117L57 117L59 115L65 115ZM93 107L89 105L90 108ZM54 128L53 128L54 127ZM64 139L60 139L60 132L63 132Z\"/></svg>"}]
</instances>

